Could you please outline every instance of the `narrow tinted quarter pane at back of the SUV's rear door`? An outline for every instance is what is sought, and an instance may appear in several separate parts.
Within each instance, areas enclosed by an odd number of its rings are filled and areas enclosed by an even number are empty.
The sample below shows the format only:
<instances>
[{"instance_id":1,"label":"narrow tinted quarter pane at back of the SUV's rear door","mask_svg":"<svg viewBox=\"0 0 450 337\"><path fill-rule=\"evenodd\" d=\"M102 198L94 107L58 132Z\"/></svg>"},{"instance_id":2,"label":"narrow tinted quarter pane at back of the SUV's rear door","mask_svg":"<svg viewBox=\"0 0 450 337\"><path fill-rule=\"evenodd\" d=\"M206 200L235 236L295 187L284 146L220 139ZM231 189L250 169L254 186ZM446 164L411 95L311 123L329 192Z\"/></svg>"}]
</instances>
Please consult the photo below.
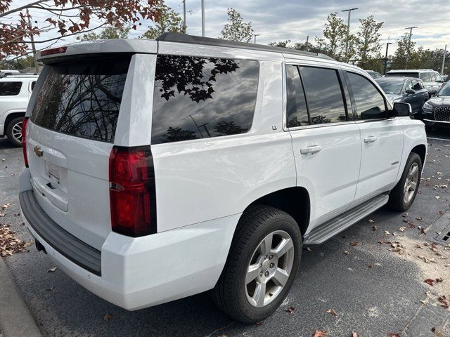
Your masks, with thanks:
<instances>
[{"instance_id":1,"label":"narrow tinted quarter pane at back of the SUV's rear door","mask_svg":"<svg viewBox=\"0 0 450 337\"><path fill-rule=\"evenodd\" d=\"M307 103L304 100L302 80L296 65L286 65L286 120L288 128L308 125Z\"/></svg>"}]
</instances>

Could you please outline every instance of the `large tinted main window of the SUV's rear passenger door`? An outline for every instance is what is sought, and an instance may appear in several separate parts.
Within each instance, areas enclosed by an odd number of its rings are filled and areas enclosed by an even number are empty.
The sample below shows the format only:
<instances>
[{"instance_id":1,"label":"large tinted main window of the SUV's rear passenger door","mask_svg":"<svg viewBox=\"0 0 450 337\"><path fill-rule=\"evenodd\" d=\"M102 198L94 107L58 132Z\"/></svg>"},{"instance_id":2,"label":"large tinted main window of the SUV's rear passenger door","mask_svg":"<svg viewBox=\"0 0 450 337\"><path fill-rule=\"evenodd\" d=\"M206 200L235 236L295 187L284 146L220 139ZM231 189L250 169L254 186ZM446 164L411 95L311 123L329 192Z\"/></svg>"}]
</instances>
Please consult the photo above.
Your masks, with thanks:
<instances>
[{"instance_id":1,"label":"large tinted main window of the SUV's rear passenger door","mask_svg":"<svg viewBox=\"0 0 450 337\"><path fill-rule=\"evenodd\" d=\"M311 124L347 121L338 72L332 69L300 67L307 95Z\"/></svg>"}]
</instances>

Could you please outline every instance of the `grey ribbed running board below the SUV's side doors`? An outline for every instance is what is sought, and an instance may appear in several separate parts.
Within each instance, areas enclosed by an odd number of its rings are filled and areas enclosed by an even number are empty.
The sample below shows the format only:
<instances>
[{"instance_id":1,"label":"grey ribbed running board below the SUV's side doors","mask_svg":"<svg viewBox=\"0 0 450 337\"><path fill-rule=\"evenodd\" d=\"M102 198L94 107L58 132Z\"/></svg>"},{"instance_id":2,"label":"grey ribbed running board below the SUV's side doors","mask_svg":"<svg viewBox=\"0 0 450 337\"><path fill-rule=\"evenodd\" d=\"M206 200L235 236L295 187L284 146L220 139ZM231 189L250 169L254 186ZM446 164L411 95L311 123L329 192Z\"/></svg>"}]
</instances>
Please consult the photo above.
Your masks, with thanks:
<instances>
[{"instance_id":1,"label":"grey ribbed running board below the SUV's side doors","mask_svg":"<svg viewBox=\"0 0 450 337\"><path fill-rule=\"evenodd\" d=\"M334 237L343 230L346 230L348 227L354 225L359 220L364 219L377 209L380 209L380 207L387 204L387 200L389 200L389 195L380 194L377 197L342 213L340 216L328 220L326 223L311 230L311 232L304 237L303 244L322 244L323 242L326 242L326 240Z\"/></svg>"}]
</instances>

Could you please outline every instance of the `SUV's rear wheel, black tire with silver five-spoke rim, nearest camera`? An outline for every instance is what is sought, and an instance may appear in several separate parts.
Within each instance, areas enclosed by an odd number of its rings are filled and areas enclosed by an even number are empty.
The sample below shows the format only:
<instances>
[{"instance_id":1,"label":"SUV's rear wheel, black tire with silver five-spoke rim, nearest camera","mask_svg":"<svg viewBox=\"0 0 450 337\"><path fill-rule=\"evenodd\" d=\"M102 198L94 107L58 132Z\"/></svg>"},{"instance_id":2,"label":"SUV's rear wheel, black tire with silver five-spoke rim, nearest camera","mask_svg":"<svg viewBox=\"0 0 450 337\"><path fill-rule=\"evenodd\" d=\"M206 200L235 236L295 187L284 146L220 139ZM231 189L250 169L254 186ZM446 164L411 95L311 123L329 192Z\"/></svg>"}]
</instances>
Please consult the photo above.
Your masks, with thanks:
<instances>
[{"instance_id":1,"label":"SUV's rear wheel, black tire with silver five-spoke rim, nearest camera","mask_svg":"<svg viewBox=\"0 0 450 337\"><path fill-rule=\"evenodd\" d=\"M270 235L271 251L264 249L264 243L269 242L269 239L264 239ZM275 250L281 246L287 252L283 253L281 249L278 258ZM288 213L269 206L248 209L239 220L226 265L212 289L212 300L240 322L254 323L266 319L288 295L301 254L302 234ZM250 269L252 272L248 273ZM247 277L252 279L248 283ZM258 296L263 288L264 297Z\"/></svg>"}]
</instances>

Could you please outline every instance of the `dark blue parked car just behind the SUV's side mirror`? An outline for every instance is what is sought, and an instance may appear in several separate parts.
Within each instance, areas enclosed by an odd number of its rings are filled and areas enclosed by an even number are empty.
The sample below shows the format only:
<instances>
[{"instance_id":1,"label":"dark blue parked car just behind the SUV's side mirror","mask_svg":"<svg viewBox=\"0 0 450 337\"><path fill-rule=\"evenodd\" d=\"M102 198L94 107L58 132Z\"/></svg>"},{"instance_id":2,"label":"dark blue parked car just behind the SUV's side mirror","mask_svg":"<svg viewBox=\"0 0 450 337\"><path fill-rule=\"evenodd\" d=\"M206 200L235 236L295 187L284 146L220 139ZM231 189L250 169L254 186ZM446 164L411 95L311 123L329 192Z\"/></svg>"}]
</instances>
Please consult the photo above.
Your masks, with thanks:
<instances>
[{"instance_id":1,"label":"dark blue parked car just behind the SUV's side mirror","mask_svg":"<svg viewBox=\"0 0 450 337\"><path fill-rule=\"evenodd\" d=\"M428 90L420 79L413 77L383 77L375 79L392 103L409 103L413 117L420 119L423 103L428 100Z\"/></svg>"}]
</instances>

